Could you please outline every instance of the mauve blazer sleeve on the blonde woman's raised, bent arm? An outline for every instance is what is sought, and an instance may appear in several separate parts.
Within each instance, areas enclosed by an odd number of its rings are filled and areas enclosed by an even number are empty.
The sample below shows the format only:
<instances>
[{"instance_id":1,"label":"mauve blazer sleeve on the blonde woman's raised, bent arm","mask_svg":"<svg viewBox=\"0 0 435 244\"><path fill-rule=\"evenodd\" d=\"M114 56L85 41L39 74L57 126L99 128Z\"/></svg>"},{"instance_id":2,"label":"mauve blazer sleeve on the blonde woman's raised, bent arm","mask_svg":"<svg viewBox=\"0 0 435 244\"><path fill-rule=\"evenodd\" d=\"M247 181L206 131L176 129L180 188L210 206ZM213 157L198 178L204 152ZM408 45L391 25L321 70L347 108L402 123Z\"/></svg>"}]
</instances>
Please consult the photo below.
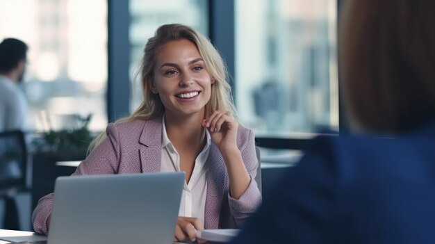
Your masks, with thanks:
<instances>
[{"instance_id":1,"label":"mauve blazer sleeve on the blonde woman's raised, bent arm","mask_svg":"<svg viewBox=\"0 0 435 244\"><path fill-rule=\"evenodd\" d=\"M251 177L251 182L245 190L245 193L239 197L239 199L234 199L228 193L229 209L231 215L236 222L236 227L240 227L245 219L252 215L261 204L261 193L255 181L255 176L258 168L258 159L256 156L255 149L255 137L252 130L247 133L246 137L241 137L239 140L239 149L242 154L243 163L249 176Z\"/></svg>"}]
</instances>

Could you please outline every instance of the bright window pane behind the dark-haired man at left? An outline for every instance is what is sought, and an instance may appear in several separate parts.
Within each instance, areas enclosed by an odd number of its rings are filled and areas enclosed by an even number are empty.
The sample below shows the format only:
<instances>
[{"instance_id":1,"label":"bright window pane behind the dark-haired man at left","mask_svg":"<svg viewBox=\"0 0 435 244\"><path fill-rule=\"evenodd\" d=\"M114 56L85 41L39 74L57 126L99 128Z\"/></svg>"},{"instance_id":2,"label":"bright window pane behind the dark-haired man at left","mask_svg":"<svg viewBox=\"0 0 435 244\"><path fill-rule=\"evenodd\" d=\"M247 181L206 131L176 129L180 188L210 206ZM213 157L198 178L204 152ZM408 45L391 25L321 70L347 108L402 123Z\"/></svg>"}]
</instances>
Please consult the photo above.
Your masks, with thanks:
<instances>
[{"instance_id":1,"label":"bright window pane behind the dark-haired man at left","mask_svg":"<svg viewBox=\"0 0 435 244\"><path fill-rule=\"evenodd\" d=\"M24 89L31 129L107 125L107 1L0 0L0 39L28 44Z\"/></svg>"}]
</instances>

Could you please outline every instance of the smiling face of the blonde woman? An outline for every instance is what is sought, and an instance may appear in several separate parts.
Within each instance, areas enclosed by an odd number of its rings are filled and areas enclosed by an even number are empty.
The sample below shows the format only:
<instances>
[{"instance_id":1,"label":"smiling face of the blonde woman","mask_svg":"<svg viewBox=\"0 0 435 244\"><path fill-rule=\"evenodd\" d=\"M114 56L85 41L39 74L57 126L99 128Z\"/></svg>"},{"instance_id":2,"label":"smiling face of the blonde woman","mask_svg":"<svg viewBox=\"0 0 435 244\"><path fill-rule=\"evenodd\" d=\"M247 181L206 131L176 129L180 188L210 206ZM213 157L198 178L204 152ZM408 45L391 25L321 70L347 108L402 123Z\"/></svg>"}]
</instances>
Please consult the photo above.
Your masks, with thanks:
<instances>
[{"instance_id":1,"label":"smiling face of the blonde woman","mask_svg":"<svg viewBox=\"0 0 435 244\"><path fill-rule=\"evenodd\" d=\"M204 60L192 42L167 42L158 51L151 91L160 96L166 117L196 114L203 118L212 83Z\"/></svg>"}]
</instances>

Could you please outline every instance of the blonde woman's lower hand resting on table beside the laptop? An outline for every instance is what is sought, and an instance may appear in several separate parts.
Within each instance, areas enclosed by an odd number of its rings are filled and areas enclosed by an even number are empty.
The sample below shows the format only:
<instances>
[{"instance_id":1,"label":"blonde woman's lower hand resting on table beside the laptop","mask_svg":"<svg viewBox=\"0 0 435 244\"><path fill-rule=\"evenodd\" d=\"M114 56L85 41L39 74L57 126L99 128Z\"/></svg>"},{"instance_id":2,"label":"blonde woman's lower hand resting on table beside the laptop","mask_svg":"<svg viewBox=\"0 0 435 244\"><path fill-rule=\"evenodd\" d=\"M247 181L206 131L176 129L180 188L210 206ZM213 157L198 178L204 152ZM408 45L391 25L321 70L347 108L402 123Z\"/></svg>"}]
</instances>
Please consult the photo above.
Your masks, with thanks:
<instances>
[{"instance_id":1,"label":"blonde woman's lower hand resting on table beside the laptop","mask_svg":"<svg viewBox=\"0 0 435 244\"><path fill-rule=\"evenodd\" d=\"M175 227L175 241L188 242L197 240L197 230L203 230L199 218L179 217Z\"/></svg>"}]
</instances>

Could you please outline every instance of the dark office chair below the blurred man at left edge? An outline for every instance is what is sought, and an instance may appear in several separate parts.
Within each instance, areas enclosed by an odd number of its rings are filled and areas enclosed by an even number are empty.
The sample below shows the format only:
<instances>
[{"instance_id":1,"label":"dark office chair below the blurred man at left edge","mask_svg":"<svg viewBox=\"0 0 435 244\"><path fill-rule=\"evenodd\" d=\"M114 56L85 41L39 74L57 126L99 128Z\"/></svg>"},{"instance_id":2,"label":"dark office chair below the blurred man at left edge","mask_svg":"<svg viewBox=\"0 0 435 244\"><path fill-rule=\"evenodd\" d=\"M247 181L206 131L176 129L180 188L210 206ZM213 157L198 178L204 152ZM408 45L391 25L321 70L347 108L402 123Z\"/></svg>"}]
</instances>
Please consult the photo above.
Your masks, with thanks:
<instances>
[{"instance_id":1,"label":"dark office chair below the blurred man at left edge","mask_svg":"<svg viewBox=\"0 0 435 244\"><path fill-rule=\"evenodd\" d=\"M19 229L15 196L27 190L27 149L22 131L0 133L0 197L5 200L3 229Z\"/></svg>"}]
</instances>

